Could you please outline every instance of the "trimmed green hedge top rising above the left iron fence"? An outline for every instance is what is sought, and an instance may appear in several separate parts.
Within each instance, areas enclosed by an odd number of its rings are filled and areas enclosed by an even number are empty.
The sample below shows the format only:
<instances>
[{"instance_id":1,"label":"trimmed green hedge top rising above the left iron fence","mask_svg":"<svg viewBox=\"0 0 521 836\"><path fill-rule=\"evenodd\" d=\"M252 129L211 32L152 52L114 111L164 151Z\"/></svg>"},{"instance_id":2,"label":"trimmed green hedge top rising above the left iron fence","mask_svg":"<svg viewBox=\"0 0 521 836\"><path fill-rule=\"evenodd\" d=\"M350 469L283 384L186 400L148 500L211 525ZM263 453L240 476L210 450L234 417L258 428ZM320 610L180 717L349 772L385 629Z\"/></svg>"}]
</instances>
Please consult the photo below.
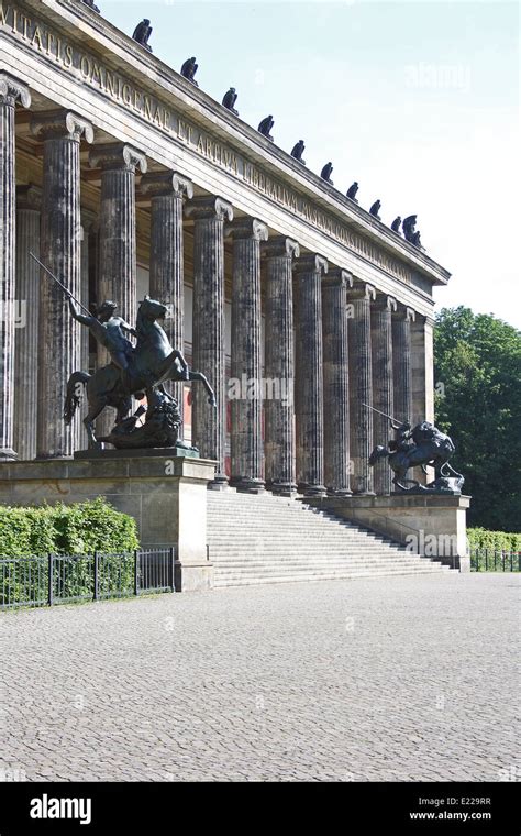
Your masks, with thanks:
<instances>
[{"instance_id":1,"label":"trimmed green hedge top rising above the left iron fence","mask_svg":"<svg viewBox=\"0 0 521 836\"><path fill-rule=\"evenodd\" d=\"M0 554L90 554L140 547L133 517L102 497L42 507L0 506Z\"/></svg>"}]
</instances>

